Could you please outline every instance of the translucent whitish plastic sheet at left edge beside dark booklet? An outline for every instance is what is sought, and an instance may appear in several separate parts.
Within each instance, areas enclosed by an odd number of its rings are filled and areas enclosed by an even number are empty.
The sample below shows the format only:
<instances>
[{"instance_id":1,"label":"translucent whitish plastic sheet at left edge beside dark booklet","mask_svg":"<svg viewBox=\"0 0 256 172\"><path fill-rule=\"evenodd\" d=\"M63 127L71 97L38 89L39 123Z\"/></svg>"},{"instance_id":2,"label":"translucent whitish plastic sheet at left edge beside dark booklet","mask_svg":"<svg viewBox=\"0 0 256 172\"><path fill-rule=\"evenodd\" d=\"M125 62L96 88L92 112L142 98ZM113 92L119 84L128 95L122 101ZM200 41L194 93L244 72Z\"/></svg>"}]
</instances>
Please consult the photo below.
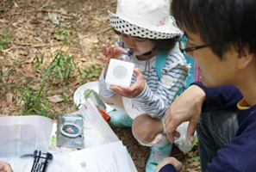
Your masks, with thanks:
<instances>
[{"instance_id":1,"label":"translucent whitish plastic sheet at left edge beside dark booklet","mask_svg":"<svg viewBox=\"0 0 256 172\"><path fill-rule=\"evenodd\" d=\"M0 117L0 157L48 151L53 121L39 115Z\"/></svg>"}]
</instances>

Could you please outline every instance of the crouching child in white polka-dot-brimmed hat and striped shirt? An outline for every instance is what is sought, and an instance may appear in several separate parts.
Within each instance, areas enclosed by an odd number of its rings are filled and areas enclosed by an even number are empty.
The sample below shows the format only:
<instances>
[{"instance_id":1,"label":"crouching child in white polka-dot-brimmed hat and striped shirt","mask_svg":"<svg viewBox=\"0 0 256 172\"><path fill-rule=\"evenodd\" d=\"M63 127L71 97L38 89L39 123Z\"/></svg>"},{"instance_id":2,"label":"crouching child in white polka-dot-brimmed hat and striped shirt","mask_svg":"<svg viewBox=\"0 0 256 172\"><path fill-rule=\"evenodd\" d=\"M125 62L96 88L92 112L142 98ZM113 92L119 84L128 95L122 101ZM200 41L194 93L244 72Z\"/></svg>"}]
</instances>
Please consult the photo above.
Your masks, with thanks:
<instances>
[{"instance_id":1,"label":"crouching child in white polka-dot-brimmed hat and striped shirt","mask_svg":"<svg viewBox=\"0 0 256 172\"><path fill-rule=\"evenodd\" d=\"M118 0L116 15L109 11L110 25L120 39L116 46L103 45L105 63L99 79L99 93L103 101L115 106L109 113L110 124L117 127L132 126L134 138L151 147L146 171L155 171L156 165L170 156L172 144L164 133L165 112L178 90L184 88L189 65L179 51L177 41L181 31L170 17L167 0ZM135 64L130 87L111 85L107 89L104 78L110 58L128 47ZM158 68L159 60L165 60Z\"/></svg>"}]
</instances>

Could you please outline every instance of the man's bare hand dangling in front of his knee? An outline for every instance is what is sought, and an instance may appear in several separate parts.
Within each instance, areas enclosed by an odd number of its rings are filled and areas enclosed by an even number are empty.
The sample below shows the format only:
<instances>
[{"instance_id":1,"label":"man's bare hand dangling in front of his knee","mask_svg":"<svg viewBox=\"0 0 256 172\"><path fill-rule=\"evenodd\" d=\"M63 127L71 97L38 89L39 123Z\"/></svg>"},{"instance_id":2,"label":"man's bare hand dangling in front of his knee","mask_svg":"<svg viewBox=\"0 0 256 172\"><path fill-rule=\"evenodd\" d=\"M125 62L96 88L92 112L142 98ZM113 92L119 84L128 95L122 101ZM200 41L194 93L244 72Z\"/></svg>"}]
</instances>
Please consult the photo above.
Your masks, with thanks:
<instances>
[{"instance_id":1,"label":"man's bare hand dangling in front of his knee","mask_svg":"<svg viewBox=\"0 0 256 172\"><path fill-rule=\"evenodd\" d=\"M189 121L187 136L190 141L193 141L205 96L203 89L194 84L172 102L165 115L165 130L172 143L174 142L174 137L179 137L176 129L184 121Z\"/></svg>"}]
</instances>

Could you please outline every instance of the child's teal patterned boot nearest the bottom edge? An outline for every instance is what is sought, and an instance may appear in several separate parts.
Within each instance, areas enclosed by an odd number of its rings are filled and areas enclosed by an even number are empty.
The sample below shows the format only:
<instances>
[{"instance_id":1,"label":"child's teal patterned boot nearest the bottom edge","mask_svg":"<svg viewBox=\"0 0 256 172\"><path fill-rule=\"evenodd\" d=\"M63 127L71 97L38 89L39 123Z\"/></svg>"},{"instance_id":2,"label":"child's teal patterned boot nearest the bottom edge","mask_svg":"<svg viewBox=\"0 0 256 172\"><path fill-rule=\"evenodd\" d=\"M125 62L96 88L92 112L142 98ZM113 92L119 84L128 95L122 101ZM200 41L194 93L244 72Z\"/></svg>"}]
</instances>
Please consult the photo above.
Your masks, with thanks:
<instances>
[{"instance_id":1,"label":"child's teal patterned boot nearest the bottom edge","mask_svg":"<svg viewBox=\"0 0 256 172\"><path fill-rule=\"evenodd\" d=\"M166 144L164 146L153 145L151 147L151 153L147 160L146 172L155 172L157 165L165 159L170 157L172 152L172 144Z\"/></svg>"}]
</instances>

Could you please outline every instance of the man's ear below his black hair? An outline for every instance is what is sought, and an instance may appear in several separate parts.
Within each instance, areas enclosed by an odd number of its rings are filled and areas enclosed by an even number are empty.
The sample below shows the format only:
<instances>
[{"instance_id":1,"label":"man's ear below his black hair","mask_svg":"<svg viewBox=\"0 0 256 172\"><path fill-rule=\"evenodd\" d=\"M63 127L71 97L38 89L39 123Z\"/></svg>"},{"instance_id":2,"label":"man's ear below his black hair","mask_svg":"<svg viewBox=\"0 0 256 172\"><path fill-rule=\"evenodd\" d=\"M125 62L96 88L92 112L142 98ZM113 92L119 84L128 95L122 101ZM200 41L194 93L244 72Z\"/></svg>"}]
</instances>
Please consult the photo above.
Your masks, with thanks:
<instances>
[{"instance_id":1,"label":"man's ear below his black hair","mask_svg":"<svg viewBox=\"0 0 256 172\"><path fill-rule=\"evenodd\" d=\"M236 67L238 70L243 70L245 68L247 68L248 64L250 64L253 60L253 53L250 52L250 48L245 46L242 48L239 48L237 50L237 63L236 63Z\"/></svg>"}]
</instances>

